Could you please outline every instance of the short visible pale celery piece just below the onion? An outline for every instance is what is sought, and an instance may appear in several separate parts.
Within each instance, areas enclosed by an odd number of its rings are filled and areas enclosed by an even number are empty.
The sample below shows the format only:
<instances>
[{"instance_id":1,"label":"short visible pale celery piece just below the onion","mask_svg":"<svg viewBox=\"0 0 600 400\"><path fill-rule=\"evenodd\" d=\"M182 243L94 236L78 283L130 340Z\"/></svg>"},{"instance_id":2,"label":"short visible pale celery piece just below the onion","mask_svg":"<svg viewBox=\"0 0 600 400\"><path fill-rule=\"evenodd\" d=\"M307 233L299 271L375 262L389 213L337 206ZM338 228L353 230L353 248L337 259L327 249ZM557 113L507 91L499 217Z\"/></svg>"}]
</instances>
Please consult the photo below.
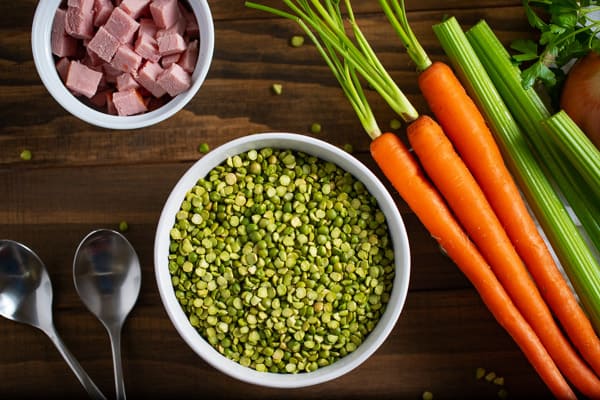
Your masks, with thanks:
<instances>
[{"instance_id":1,"label":"short visible pale celery piece just below the onion","mask_svg":"<svg viewBox=\"0 0 600 400\"><path fill-rule=\"evenodd\" d=\"M600 202L600 150L564 110L544 120L542 125Z\"/></svg>"}]
</instances>

